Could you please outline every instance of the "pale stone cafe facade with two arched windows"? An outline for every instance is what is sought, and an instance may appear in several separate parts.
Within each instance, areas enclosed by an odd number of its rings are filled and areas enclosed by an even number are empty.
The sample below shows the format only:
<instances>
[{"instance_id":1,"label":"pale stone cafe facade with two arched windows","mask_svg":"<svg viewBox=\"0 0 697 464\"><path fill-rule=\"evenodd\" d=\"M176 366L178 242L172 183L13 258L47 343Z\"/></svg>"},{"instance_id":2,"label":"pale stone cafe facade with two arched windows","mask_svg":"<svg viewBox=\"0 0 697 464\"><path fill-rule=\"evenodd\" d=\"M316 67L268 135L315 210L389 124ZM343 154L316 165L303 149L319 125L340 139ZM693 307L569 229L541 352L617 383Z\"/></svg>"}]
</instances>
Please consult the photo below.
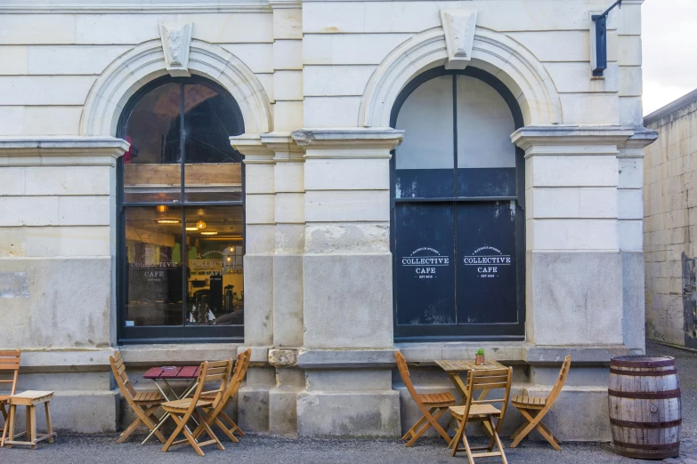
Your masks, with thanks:
<instances>
[{"instance_id":1,"label":"pale stone cafe facade with two arched windows","mask_svg":"<svg viewBox=\"0 0 697 464\"><path fill-rule=\"evenodd\" d=\"M550 427L607 439L609 359L644 351L642 2L595 77L606 0L3 2L20 388L113 430L114 349L149 388L248 347L244 430L400 436L395 349L425 392L484 348L544 394L571 354Z\"/></svg>"}]
</instances>

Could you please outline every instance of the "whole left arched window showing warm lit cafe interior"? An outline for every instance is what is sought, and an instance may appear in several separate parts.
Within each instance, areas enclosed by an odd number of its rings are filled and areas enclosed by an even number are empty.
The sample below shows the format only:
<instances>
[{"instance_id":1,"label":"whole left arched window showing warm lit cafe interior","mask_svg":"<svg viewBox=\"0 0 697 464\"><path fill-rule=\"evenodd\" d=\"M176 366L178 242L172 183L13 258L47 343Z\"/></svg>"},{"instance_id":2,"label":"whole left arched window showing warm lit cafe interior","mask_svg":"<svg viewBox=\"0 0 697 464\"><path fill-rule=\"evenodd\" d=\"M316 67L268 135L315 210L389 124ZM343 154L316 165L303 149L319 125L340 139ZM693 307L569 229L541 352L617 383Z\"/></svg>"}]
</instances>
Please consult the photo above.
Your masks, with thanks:
<instances>
[{"instance_id":1,"label":"whole left arched window showing warm lit cafe interior","mask_svg":"<svg viewBox=\"0 0 697 464\"><path fill-rule=\"evenodd\" d=\"M244 167L237 102L198 76L157 79L118 136L118 339L242 340Z\"/></svg>"}]
</instances>

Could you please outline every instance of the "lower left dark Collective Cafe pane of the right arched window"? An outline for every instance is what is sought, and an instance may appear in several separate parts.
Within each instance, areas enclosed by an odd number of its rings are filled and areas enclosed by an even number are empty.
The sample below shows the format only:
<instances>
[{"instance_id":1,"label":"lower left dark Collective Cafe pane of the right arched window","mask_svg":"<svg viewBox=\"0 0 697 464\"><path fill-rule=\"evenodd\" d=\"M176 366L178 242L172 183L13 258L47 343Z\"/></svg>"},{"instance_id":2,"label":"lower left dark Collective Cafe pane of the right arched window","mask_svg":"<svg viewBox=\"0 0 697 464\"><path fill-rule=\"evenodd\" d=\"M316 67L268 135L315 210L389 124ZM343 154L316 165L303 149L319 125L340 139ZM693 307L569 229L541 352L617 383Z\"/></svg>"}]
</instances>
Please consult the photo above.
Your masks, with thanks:
<instances>
[{"instance_id":1,"label":"lower left dark Collective Cafe pane of the right arched window","mask_svg":"<svg viewBox=\"0 0 697 464\"><path fill-rule=\"evenodd\" d=\"M397 324L455 324L452 204L396 204Z\"/></svg>"}]
</instances>

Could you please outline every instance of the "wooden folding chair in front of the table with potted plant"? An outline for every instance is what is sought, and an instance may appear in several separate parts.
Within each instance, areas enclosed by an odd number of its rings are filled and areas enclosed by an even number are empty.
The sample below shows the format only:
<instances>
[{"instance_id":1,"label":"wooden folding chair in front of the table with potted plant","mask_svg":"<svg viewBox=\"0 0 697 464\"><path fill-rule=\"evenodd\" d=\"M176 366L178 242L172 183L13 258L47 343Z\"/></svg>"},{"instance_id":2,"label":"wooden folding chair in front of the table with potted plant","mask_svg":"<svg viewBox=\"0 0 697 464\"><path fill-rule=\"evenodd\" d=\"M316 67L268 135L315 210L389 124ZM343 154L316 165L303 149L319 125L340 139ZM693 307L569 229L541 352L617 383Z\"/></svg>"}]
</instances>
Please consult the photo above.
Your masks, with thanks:
<instances>
[{"instance_id":1,"label":"wooden folding chair in front of the table with potted plant","mask_svg":"<svg viewBox=\"0 0 697 464\"><path fill-rule=\"evenodd\" d=\"M498 431L503 424L506 416L508 404L508 396L511 394L511 376L513 370L510 367L504 369L490 369L486 371L470 371L467 379L467 401L464 406L450 406L450 413L458 421L458 431L455 433L450 442L450 454L455 456L458 451L467 453L467 459L470 464L474 464L476 458L488 458L492 456L500 456L504 464L507 464L506 454L503 451L503 444L498 437ZM476 390L495 390L503 388L503 398L485 399L480 396L480 399L474 399ZM501 403L501 409L495 407L494 403ZM494 424L494 418L498 421ZM491 428L491 439L486 446L470 446L465 435L465 428L470 422L485 422ZM458 448L458 444L462 440L464 448ZM494 445L498 446L498 452L494 451ZM486 452L474 452L482 451Z\"/></svg>"}]
</instances>

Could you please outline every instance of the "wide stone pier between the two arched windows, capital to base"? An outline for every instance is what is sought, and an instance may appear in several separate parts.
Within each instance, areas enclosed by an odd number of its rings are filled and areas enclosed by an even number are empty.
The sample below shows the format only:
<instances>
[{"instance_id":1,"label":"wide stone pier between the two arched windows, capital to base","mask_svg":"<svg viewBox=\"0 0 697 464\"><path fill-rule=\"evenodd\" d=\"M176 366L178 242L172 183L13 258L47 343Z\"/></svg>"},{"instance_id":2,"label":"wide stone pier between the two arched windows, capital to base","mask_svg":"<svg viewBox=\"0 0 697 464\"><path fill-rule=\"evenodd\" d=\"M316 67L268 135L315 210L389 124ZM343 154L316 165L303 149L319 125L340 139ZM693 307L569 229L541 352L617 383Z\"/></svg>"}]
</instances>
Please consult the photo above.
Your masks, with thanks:
<instances>
[{"instance_id":1,"label":"wide stone pier between the two arched windows, capital to base","mask_svg":"<svg viewBox=\"0 0 697 464\"><path fill-rule=\"evenodd\" d=\"M299 436L398 436L389 159L401 131L306 129Z\"/></svg>"}]
</instances>

